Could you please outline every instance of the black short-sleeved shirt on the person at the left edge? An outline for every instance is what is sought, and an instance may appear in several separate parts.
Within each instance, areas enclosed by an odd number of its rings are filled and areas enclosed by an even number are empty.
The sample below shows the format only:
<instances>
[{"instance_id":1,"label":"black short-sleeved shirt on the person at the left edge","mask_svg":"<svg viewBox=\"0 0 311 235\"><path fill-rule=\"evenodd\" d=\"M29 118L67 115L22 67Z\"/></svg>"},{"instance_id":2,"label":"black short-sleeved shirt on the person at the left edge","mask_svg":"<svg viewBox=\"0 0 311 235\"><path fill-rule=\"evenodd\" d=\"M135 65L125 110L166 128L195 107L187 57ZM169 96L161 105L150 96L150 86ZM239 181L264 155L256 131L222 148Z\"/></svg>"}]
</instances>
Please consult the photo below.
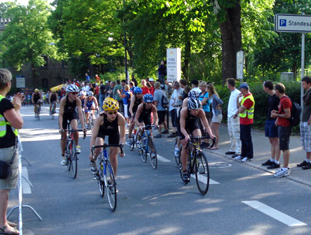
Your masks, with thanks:
<instances>
[{"instance_id":1,"label":"black short-sleeved shirt on the person at the left edge","mask_svg":"<svg viewBox=\"0 0 311 235\"><path fill-rule=\"evenodd\" d=\"M10 109L14 109L13 104L10 102L10 100L3 98L0 102L0 114L3 115L4 112ZM6 122L8 122L8 120L6 120ZM12 127L10 125L6 125L6 135L0 138L0 149L12 147L14 144L15 134L12 131Z\"/></svg>"}]
</instances>

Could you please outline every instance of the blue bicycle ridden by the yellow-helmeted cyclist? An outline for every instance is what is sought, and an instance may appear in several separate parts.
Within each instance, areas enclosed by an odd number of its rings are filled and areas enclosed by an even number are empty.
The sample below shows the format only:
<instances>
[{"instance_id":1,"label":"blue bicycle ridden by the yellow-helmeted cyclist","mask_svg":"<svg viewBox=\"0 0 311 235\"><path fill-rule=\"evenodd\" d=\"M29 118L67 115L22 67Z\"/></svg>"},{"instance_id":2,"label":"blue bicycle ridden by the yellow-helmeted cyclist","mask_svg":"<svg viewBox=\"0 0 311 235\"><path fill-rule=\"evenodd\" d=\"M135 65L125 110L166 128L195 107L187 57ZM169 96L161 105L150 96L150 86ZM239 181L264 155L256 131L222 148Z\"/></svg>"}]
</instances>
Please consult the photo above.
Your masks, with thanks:
<instances>
[{"instance_id":1,"label":"blue bicycle ridden by the yellow-helmeted cyclist","mask_svg":"<svg viewBox=\"0 0 311 235\"><path fill-rule=\"evenodd\" d=\"M92 146L92 156L94 156L94 149L103 148L96 159L97 173L94 175L94 179L97 180L100 196L102 196L102 198L104 197L106 189L109 207L114 212L117 207L117 182L115 182L115 173L113 172L109 154L106 150L106 148L109 147L120 147L121 153L123 153L123 144L103 144Z\"/></svg>"}]
</instances>

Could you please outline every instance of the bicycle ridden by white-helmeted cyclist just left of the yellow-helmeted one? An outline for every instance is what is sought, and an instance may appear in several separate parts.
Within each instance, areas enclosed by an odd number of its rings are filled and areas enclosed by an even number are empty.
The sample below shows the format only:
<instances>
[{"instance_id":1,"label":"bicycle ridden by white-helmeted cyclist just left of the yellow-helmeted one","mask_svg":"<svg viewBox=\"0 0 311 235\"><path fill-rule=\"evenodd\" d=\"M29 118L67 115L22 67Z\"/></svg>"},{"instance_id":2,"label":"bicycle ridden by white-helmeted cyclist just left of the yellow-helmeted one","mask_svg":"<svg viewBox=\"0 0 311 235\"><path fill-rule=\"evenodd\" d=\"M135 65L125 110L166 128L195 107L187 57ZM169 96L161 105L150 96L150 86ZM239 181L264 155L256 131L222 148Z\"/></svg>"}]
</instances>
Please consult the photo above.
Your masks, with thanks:
<instances>
[{"instance_id":1,"label":"bicycle ridden by white-helmeted cyclist just left of the yellow-helmeted one","mask_svg":"<svg viewBox=\"0 0 311 235\"><path fill-rule=\"evenodd\" d=\"M67 140L66 140L66 150L65 150L65 157L66 157L66 165L68 171L73 172L73 178L77 177L77 150L75 149L75 140L73 139L73 133L76 131L83 131L83 129L71 129L70 130L70 122L67 123L67 129L63 130L68 132ZM86 138L86 133L84 132L83 139Z\"/></svg>"}]
</instances>

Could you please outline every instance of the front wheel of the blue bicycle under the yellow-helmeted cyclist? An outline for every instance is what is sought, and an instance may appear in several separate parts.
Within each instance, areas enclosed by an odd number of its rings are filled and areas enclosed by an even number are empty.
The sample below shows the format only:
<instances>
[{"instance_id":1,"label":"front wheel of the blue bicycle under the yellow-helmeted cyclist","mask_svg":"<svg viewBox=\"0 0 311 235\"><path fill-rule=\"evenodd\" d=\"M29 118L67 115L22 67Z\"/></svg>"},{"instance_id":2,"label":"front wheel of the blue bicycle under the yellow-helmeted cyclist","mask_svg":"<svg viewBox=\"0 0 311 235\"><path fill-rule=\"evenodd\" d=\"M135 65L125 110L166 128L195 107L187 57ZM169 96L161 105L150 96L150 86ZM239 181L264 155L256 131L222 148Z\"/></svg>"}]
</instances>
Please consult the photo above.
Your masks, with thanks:
<instances>
[{"instance_id":1,"label":"front wheel of the blue bicycle under the yellow-helmeted cyclist","mask_svg":"<svg viewBox=\"0 0 311 235\"><path fill-rule=\"evenodd\" d=\"M107 161L107 163L105 164L106 164L106 174L104 175L104 182L106 194L108 198L109 207L114 212L115 208L117 207L117 188L115 187L117 184L115 182L115 174L113 173L111 163Z\"/></svg>"}]
</instances>

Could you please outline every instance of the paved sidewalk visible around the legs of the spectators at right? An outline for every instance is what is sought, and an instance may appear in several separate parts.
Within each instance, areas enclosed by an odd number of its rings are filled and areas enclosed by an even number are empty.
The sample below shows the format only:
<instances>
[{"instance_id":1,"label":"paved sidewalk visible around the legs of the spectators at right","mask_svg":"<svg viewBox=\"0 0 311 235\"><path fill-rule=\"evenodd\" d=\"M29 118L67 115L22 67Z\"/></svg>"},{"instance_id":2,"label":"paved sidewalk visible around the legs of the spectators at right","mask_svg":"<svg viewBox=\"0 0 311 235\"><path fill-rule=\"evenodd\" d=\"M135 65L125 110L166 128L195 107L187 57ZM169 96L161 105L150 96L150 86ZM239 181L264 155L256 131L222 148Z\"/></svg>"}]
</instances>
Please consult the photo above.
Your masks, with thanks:
<instances>
[{"instance_id":1,"label":"paved sidewalk visible around the legs of the spectators at right","mask_svg":"<svg viewBox=\"0 0 311 235\"><path fill-rule=\"evenodd\" d=\"M220 156L224 156L230 160L234 160L232 155L225 155L225 152L229 151L230 147L230 138L227 131L227 125L221 124L219 126L219 149L212 150L213 153L216 153ZM254 160L251 162L245 162L241 164L248 164L249 166L256 167L258 169L262 169L263 171L271 173L271 177L274 177L274 171L276 169L267 169L267 167L262 166L261 164L266 160L270 159L271 149L270 142L267 137L265 137L265 133L262 131L254 131L252 130L252 141L254 147ZM211 150L205 150L210 151ZM311 187L311 169L303 170L301 167L296 167L296 164L301 163L305 160L305 151L301 147L300 136L292 135L290 137L290 171L291 174L287 178L290 180L294 180L296 182L301 182L305 185ZM283 153L281 152L280 164L283 164Z\"/></svg>"}]
</instances>

